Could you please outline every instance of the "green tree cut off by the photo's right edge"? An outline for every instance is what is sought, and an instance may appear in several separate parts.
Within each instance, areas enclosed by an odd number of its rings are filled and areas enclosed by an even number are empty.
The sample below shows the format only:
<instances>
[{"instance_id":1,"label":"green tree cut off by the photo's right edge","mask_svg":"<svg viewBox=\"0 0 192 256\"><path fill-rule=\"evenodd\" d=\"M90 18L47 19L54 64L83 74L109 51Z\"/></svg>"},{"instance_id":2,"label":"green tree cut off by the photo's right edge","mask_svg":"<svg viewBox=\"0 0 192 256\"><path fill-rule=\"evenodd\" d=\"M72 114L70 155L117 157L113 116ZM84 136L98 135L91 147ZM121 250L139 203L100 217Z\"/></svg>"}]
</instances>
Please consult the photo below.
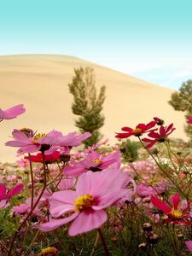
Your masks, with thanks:
<instances>
[{"instance_id":1,"label":"green tree cut off by the photo's right edge","mask_svg":"<svg viewBox=\"0 0 192 256\"><path fill-rule=\"evenodd\" d=\"M192 80L184 82L179 91L172 93L169 104L177 111L185 112L185 119L192 116ZM184 125L187 136L192 136L192 125Z\"/></svg>"}]
</instances>

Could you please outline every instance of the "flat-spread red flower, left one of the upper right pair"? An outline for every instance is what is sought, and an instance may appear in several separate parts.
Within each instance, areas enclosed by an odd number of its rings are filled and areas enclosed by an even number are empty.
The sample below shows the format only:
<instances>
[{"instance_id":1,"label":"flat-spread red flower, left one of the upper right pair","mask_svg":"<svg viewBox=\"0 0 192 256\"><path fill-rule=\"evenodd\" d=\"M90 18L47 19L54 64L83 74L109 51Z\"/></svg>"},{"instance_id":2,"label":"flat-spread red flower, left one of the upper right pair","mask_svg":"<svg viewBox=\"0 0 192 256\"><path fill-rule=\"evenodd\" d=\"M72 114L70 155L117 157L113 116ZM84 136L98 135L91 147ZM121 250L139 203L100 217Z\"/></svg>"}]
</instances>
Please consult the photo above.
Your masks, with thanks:
<instances>
[{"instance_id":1,"label":"flat-spread red flower, left one of the upper right pair","mask_svg":"<svg viewBox=\"0 0 192 256\"><path fill-rule=\"evenodd\" d=\"M147 125L138 124L135 129L132 129L130 127L123 127L123 128L121 128L121 130L125 131L125 133L117 133L117 135L115 137L125 138L125 137L131 137L131 135L134 135L136 137L140 137L145 132L157 130L157 128L149 130L152 127L154 127L155 124L156 123L154 121L152 121L152 122L148 123Z\"/></svg>"}]
</instances>

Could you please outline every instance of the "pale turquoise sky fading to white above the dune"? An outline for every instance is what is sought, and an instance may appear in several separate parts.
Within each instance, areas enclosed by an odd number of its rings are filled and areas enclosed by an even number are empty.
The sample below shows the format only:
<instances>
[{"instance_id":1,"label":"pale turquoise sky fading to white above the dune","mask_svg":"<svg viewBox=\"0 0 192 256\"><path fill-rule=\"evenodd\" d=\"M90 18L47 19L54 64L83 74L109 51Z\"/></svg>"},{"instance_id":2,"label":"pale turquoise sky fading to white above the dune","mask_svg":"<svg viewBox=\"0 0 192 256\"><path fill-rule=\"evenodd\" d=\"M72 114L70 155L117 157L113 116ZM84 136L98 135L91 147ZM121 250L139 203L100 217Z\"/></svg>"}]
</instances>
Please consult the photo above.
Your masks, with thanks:
<instances>
[{"instance_id":1,"label":"pale turquoise sky fading to white above the dune","mask_svg":"<svg viewBox=\"0 0 192 256\"><path fill-rule=\"evenodd\" d=\"M0 0L0 55L73 55L178 90L192 79L191 0Z\"/></svg>"}]
</instances>

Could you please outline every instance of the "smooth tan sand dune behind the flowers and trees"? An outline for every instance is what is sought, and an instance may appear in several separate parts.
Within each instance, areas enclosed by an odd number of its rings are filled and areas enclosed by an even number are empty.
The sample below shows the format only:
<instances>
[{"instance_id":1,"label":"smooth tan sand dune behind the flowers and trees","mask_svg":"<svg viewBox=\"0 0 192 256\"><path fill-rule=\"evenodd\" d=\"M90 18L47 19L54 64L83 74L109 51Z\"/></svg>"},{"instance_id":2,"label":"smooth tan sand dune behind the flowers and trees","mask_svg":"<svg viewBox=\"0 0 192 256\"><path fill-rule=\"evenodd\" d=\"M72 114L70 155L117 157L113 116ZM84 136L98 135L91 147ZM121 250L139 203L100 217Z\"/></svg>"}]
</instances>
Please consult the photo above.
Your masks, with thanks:
<instances>
[{"instance_id":1,"label":"smooth tan sand dune behind the flowers and trees","mask_svg":"<svg viewBox=\"0 0 192 256\"><path fill-rule=\"evenodd\" d=\"M135 126L154 116L165 119L166 124L175 124L173 137L186 138L183 113L175 112L167 103L172 90L72 56L0 56L0 108L18 103L26 107L22 116L0 124L0 161L15 161L15 148L3 145L14 128L31 127L45 132L55 129L64 133L77 130L73 125L76 116L71 111L73 96L67 84L72 80L73 68L80 66L93 67L96 85L107 86L102 132L110 143L117 142L114 132L120 131L121 126Z\"/></svg>"}]
</instances>

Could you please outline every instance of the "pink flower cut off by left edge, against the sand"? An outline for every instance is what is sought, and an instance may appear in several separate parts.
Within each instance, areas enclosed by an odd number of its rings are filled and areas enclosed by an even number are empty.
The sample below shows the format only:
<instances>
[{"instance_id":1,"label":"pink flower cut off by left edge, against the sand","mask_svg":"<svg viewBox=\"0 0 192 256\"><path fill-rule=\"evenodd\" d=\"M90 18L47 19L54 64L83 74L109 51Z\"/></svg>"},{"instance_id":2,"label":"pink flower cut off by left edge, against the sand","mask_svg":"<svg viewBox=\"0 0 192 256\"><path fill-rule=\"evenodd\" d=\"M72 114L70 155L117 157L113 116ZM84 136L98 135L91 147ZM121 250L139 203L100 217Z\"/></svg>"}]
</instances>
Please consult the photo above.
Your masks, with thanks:
<instances>
[{"instance_id":1,"label":"pink flower cut off by left edge, against the sand","mask_svg":"<svg viewBox=\"0 0 192 256\"><path fill-rule=\"evenodd\" d=\"M23 108L23 104L16 105L7 110L3 110L0 108L0 121L2 121L3 119L15 119L15 117L17 117L21 113L24 113L25 111L26 109Z\"/></svg>"}]
</instances>

